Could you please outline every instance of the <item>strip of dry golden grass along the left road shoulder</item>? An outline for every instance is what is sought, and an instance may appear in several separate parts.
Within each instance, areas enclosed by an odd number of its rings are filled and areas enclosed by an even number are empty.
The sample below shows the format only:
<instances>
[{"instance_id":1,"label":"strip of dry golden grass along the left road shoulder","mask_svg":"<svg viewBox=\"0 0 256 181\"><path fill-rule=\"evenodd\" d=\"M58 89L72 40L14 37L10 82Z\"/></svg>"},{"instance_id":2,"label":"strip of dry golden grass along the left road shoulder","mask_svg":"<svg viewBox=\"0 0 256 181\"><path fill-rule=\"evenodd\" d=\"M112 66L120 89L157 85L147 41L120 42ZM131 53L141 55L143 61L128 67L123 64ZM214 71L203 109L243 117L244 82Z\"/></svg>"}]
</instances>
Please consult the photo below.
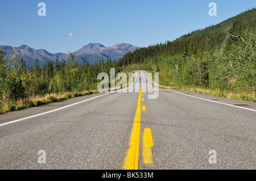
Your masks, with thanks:
<instances>
[{"instance_id":1,"label":"strip of dry golden grass along the left road shoulder","mask_svg":"<svg viewBox=\"0 0 256 181\"><path fill-rule=\"evenodd\" d=\"M13 102L9 98L5 98L3 101L3 106L0 108L0 113L21 110L21 109L39 106L39 105L52 103L52 102L59 102L61 100L75 98L77 96L95 94L97 92L98 92L97 90L90 90L90 91L65 92L63 94L49 94L43 97L31 96L30 98L26 98L26 99L18 99L16 102Z\"/></svg>"}]
</instances>

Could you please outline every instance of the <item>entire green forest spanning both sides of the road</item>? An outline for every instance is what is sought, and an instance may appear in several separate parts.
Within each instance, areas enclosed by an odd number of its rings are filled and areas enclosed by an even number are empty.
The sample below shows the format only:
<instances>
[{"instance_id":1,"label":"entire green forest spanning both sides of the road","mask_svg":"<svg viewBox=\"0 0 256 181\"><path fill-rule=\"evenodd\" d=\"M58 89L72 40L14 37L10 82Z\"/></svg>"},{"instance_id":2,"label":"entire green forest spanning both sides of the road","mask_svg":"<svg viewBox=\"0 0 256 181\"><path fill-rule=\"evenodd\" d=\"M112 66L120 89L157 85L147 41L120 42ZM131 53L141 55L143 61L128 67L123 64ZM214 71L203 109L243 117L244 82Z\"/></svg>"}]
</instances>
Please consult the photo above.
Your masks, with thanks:
<instances>
[{"instance_id":1,"label":"entire green forest spanning both sides of the road","mask_svg":"<svg viewBox=\"0 0 256 181\"><path fill-rule=\"evenodd\" d=\"M27 69L22 58L7 60L0 49L0 112L18 110L40 103L90 94L97 89L97 75L131 70L148 70L175 83L210 90L249 94L255 102L256 90L256 10L247 10L204 30L125 54L119 60L103 60L95 64L75 62L69 53L66 61L46 62ZM76 92L75 95L67 92ZM81 94L81 92L86 92ZM96 92L96 91L94 91ZM253 95L253 96L251 96ZM46 98L44 102L34 101Z\"/></svg>"}]
</instances>

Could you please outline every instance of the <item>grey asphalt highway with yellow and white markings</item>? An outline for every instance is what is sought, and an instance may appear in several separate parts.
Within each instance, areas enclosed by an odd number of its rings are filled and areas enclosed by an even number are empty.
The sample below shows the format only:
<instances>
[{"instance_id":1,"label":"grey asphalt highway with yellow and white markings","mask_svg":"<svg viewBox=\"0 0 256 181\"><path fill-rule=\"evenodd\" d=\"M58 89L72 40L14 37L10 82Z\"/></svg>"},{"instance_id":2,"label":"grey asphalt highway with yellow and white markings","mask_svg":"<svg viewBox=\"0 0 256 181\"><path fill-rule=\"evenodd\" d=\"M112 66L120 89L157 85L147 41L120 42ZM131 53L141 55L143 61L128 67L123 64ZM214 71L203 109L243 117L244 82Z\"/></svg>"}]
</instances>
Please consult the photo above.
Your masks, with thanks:
<instances>
[{"instance_id":1,"label":"grey asphalt highway with yellow and white markings","mask_svg":"<svg viewBox=\"0 0 256 181\"><path fill-rule=\"evenodd\" d=\"M143 71L135 77L135 90L152 84ZM256 169L256 103L158 93L104 92L4 113L0 169Z\"/></svg>"}]
</instances>

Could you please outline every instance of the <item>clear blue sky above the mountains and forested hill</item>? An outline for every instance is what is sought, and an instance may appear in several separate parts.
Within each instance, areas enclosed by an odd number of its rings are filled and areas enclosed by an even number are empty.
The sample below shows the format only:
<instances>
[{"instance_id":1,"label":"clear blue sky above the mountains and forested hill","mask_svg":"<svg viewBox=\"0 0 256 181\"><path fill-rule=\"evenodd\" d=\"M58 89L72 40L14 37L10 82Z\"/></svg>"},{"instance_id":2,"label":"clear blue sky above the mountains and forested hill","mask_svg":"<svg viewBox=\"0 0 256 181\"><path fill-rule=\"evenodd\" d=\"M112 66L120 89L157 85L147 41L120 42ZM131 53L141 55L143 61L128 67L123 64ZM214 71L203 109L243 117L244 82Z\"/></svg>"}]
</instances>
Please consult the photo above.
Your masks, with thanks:
<instances>
[{"instance_id":1,"label":"clear blue sky above the mountains and forested hill","mask_svg":"<svg viewBox=\"0 0 256 181\"><path fill-rule=\"evenodd\" d=\"M39 2L46 16L39 16ZM217 16L209 16L210 2ZM74 52L89 43L147 47L256 7L255 0L1 0L0 45Z\"/></svg>"}]
</instances>

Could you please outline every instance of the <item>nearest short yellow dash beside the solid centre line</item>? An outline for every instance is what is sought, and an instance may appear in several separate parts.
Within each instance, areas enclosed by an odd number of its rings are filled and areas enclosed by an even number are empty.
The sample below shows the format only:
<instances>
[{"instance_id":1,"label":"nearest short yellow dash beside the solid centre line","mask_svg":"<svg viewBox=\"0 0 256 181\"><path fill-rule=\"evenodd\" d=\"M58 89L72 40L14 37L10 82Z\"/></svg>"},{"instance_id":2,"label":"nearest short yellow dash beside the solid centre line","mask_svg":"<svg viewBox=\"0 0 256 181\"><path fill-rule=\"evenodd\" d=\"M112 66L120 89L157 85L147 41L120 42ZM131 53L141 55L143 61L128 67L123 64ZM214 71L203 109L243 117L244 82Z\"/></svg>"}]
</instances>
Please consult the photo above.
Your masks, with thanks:
<instances>
[{"instance_id":1,"label":"nearest short yellow dash beside the solid centre line","mask_svg":"<svg viewBox=\"0 0 256 181\"><path fill-rule=\"evenodd\" d=\"M145 128L143 133L143 162L145 164L153 163L151 147L153 146L151 130L150 128Z\"/></svg>"}]
</instances>

